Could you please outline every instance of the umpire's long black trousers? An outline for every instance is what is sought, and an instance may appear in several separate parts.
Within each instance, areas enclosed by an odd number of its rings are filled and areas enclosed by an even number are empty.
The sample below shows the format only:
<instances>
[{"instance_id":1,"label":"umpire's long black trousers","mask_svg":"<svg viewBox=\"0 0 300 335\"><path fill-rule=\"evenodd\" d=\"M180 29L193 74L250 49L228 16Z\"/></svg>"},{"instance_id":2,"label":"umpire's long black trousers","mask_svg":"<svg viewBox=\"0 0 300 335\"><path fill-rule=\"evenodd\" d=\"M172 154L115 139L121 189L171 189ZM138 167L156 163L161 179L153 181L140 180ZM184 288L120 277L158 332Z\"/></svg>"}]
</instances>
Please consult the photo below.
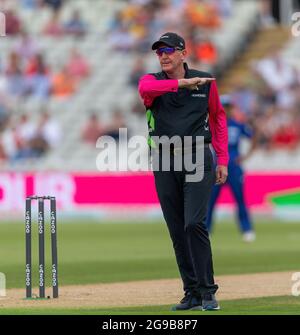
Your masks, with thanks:
<instances>
[{"instance_id":1,"label":"umpire's long black trousers","mask_svg":"<svg viewBox=\"0 0 300 335\"><path fill-rule=\"evenodd\" d=\"M215 182L213 156L204 148L204 177L187 182L193 174L184 168L154 171L157 195L168 226L185 292L215 293L211 245L205 220L211 190Z\"/></svg>"}]
</instances>

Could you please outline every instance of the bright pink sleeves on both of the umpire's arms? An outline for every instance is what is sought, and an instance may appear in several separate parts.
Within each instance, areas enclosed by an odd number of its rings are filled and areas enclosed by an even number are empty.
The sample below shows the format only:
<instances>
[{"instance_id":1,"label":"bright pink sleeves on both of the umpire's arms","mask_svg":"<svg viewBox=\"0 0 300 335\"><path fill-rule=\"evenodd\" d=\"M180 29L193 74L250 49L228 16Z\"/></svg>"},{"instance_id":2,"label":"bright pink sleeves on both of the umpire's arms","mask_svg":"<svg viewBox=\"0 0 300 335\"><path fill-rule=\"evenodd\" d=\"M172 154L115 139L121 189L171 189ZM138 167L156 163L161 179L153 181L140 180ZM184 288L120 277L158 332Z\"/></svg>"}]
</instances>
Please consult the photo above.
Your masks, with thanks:
<instances>
[{"instance_id":1,"label":"bright pink sleeves on both of the umpire's arms","mask_svg":"<svg viewBox=\"0 0 300 335\"><path fill-rule=\"evenodd\" d=\"M169 92L178 92L177 79L157 80L146 74L139 81L139 93L146 107L150 107L154 99ZM210 84L208 97L209 128L212 145L217 156L218 165L228 165L228 130L224 108L220 102L216 82Z\"/></svg>"}]
</instances>

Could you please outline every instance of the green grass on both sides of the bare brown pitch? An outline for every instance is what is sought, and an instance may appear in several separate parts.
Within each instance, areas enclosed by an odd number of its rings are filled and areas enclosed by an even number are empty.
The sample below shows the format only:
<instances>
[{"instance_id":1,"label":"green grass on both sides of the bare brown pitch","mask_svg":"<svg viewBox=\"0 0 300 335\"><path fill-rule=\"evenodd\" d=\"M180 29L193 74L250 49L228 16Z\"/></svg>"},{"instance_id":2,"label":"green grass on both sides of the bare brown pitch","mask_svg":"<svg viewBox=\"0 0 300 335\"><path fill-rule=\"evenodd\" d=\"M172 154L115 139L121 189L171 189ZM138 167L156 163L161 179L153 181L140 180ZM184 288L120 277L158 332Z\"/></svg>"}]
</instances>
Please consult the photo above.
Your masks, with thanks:
<instances>
[{"instance_id":1,"label":"green grass on both sides of the bare brown pitch","mask_svg":"<svg viewBox=\"0 0 300 335\"><path fill-rule=\"evenodd\" d=\"M216 225L212 236L216 275L300 271L299 224L257 222L256 230L257 240L245 244L235 224L224 222ZM35 232L37 237L37 230ZM24 224L0 224L0 235L0 272L6 275L7 288L24 287ZM50 234L46 236L46 259L50 260ZM37 238L33 246L33 261L37 264ZM159 222L60 224L58 248L60 285L179 277L168 231L165 224ZM37 285L36 272L33 278ZM50 279L48 281L50 283ZM300 314L299 303L300 298L292 296L224 301L223 310L218 313ZM80 314L168 314L168 311L169 306L149 306L87 309L80 310ZM79 310L0 310L0 314L25 313L78 314Z\"/></svg>"}]
</instances>

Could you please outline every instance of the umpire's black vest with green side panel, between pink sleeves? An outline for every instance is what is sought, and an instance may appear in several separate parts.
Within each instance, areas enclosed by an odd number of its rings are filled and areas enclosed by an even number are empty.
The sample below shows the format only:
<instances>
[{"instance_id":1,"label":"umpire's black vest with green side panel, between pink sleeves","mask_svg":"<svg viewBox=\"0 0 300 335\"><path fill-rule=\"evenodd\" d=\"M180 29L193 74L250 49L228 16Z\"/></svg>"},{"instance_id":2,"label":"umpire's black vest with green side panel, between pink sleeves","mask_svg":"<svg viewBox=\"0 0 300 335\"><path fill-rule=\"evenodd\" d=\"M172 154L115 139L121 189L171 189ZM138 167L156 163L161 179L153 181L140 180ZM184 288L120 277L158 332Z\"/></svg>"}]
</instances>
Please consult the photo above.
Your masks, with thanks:
<instances>
[{"instance_id":1,"label":"umpire's black vest with green side panel, between pink sleeves","mask_svg":"<svg viewBox=\"0 0 300 335\"><path fill-rule=\"evenodd\" d=\"M211 78L209 73L189 69L184 63L185 78ZM166 73L151 73L157 80L168 79ZM149 129L148 143L151 145L152 136L168 137L204 136L204 142L211 142L211 132L208 124L208 101L210 83L199 86L199 90L179 88L177 92L168 92L154 99L152 106L147 108ZM153 144L153 143L152 143Z\"/></svg>"}]
</instances>

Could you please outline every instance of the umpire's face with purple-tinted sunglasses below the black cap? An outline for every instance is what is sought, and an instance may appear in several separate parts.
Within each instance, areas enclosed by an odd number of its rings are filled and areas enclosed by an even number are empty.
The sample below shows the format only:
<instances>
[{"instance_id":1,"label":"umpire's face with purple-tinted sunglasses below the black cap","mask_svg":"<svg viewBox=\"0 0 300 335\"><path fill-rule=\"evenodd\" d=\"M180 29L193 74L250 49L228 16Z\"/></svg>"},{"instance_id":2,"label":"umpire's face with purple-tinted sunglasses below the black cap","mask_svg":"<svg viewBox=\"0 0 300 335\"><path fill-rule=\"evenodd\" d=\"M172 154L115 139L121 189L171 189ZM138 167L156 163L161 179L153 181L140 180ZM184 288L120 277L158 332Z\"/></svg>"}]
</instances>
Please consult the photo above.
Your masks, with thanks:
<instances>
[{"instance_id":1,"label":"umpire's face with purple-tinted sunglasses below the black cap","mask_svg":"<svg viewBox=\"0 0 300 335\"><path fill-rule=\"evenodd\" d=\"M182 65L185 59L186 50L177 50L176 48L171 48L162 44L156 50L156 53L162 70L165 72L173 72Z\"/></svg>"}]
</instances>

